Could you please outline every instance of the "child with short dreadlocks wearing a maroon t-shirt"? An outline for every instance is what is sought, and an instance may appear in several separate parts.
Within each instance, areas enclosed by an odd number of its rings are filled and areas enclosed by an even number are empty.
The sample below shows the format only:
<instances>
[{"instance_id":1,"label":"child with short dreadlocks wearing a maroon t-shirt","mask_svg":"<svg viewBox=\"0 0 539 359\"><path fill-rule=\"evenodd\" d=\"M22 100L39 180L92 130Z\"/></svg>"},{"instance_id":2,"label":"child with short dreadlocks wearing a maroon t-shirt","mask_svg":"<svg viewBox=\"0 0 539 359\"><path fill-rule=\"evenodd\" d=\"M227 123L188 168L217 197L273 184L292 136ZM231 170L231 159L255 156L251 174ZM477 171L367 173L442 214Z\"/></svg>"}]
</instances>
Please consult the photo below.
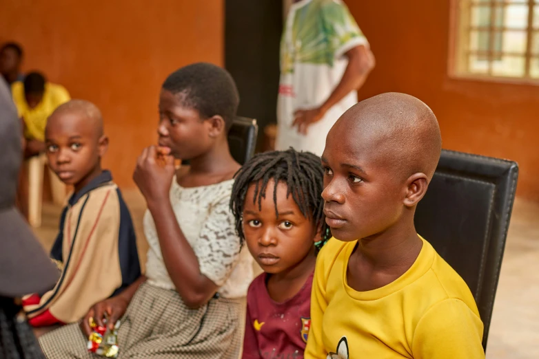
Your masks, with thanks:
<instances>
[{"instance_id":1,"label":"child with short dreadlocks wearing a maroon t-shirt","mask_svg":"<svg viewBox=\"0 0 539 359\"><path fill-rule=\"evenodd\" d=\"M316 253L329 238L323 168L312 153L256 155L236 174L238 235L264 273L247 292L243 358L303 358Z\"/></svg>"}]
</instances>

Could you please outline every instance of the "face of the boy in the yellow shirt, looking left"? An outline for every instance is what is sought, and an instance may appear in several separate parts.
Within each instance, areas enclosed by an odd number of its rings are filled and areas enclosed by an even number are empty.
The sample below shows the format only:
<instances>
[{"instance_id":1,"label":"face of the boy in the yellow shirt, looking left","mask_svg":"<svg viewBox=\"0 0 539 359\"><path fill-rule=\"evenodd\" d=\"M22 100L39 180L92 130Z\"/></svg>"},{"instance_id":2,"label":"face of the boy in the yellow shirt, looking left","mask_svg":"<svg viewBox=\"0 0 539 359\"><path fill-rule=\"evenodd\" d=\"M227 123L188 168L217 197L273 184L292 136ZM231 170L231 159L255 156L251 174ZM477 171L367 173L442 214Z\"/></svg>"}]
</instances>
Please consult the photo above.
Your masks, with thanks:
<instances>
[{"instance_id":1,"label":"face of the boy in the yellow shirt, looking left","mask_svg":"<svg viewBox=\"0 0 539 359\"><path fill-rule=\"evenodd\" d=\"M336 124L322 155L324 213L332 235L354 241L385 232L400 219L407 186L396 175L391 144L369 129Z\"/></svg>"}]
</instances>

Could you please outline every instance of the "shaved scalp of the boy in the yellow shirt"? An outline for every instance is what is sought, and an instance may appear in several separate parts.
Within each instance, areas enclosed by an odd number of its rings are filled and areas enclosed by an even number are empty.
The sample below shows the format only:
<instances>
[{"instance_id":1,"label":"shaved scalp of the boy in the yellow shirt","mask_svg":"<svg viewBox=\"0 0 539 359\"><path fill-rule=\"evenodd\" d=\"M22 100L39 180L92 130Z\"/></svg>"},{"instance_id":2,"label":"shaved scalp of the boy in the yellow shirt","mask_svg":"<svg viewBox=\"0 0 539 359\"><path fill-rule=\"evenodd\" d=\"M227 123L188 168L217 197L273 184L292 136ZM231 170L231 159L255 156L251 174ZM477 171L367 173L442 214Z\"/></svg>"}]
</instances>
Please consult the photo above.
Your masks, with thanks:
<instances>
[{"instance_id":1,"label":"shaved scalp of the boy in the yellow shirt","mask_svg":"<svg viewBox=\"0 0 539 359\"><path fill-rule=\"evenodd\" d=\"M402 179L434 175L442 138L436 116L421 100L395 92L374 96L348 109L332 128L334 135L358 131Z\"/></svg>"}]
</instances>

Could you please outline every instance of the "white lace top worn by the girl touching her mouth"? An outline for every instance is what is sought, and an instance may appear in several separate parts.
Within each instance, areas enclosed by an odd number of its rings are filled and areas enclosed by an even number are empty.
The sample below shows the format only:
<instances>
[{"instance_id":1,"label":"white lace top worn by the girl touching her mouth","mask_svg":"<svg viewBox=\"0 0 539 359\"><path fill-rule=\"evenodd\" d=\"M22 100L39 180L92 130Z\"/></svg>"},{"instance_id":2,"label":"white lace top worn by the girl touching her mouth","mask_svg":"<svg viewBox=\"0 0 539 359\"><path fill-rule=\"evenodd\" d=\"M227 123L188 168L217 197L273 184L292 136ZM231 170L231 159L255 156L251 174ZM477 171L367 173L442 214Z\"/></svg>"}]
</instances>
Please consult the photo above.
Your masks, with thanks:
<instances>
[{"instance_id":1,"label":"white lace top worn by the girl touching her mouth","mask_svg":"<svg viewBox=\"0 0 539 359\"><path fill-rule=\"evenodd\" d=\"M233 179L210 186L183 188L174 177L170 202L176 220L199 259L201 273L218 285L225 298L241 298L253 279L252 257L247 246L240 246L229 208ZM144 233L148 240L146 276L148 283L175 290L159 246L152 215L144 215ZM178 260L181 260L179 258Z\"/></svg>"}]
</instances>

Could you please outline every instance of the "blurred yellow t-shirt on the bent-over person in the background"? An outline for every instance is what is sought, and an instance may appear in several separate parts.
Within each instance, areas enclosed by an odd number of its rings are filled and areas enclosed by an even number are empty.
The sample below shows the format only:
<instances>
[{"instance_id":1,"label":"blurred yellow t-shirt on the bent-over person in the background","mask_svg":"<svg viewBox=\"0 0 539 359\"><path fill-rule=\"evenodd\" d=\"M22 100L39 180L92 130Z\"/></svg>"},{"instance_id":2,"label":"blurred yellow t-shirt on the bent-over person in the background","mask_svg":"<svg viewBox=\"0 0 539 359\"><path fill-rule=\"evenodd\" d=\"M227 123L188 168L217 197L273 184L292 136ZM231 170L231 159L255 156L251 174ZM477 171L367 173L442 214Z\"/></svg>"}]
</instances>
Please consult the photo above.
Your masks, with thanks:
<instances>
[{"instance_id":1,"label":"blurred yellow t-shirt on the bent-over person in the background","mask_svg":"<svg viewBox=\"0 0 539 359\"><path fill-rule=\"evenodd\" d=\"M65 87L54 83L45 83L43 100L39 102L37 107L30 109L24 97L23 83L20 81L14 82L11 85L11 91L19 117L23 118L26 124L25 137L40 141L45 140L47 118L57 107L70 100L68 90Z\"/></svg>"}]
</instances>

